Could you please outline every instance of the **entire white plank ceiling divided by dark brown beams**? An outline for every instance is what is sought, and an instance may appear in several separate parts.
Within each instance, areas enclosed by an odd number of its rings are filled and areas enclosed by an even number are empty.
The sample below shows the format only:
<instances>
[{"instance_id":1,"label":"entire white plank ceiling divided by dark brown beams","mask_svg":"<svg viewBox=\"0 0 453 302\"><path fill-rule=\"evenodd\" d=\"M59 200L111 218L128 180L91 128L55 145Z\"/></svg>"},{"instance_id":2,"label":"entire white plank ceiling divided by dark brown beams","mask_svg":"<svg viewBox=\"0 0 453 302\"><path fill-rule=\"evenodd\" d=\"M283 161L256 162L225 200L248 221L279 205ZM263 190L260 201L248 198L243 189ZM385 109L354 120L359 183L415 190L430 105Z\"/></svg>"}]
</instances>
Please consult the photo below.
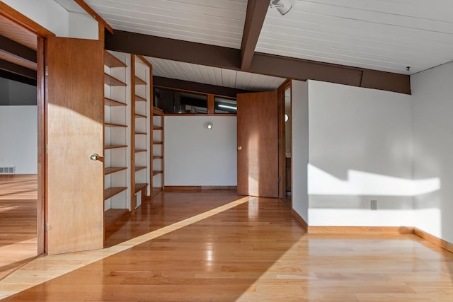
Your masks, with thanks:
<instances>
[{"instance_id":1,"label":"entire white plank ceiling divided by dark brown beams","mask_svg":"<svg viewBox=\"0 0 453 302\"><path fill-rule=\"evenodd\" d=\"M59 0L62 1L62 0ZM413 74L453 60L452 0L292 0L285 16L269 8L256 52ZM114 29L239 49L246 0L86 0ZM158 62L158 60L156 60ZM183 63L173 73L194 67ZM197 65L195 65L197 66ZM406 67L411 66L410 71ZM197 66L202 70L205 66ZM214 75L229 74L214 69ZM242 73L234 72L236 85ZM219 84L186 72L185 80ZM246 81L251 79L245 76ZM176 78L178 79L178 78ZM228 76L230 79L230 76ZM277 80L273 80L277 81ZM222 83L231 83L224 81ZM253 84L254 85L254 84ZM238 87L239 88L239 87Z\"/></svg>"}]
</instances>

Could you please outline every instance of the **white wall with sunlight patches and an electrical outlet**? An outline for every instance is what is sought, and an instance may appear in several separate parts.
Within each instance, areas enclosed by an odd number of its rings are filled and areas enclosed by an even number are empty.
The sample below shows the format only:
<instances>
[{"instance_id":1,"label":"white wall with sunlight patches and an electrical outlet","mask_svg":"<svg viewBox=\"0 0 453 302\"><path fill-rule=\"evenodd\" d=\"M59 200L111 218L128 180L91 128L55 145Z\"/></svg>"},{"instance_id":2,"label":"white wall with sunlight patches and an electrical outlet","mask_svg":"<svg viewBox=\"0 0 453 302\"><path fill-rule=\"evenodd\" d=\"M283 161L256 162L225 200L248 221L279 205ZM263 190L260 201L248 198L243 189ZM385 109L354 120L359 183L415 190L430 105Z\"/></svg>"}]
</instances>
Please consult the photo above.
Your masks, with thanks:
<instances>
[{"instance_id":1,"label":"white wall with sunlight patches and an electrical outlet","mask_svg":"<svg viewBox=\"0 0 453 302\"><path fill-rule=\"evenodd\" d=\"M413 226L411 95L309 81L309 162L310 226Z\"/></svg>"}]
</instances>

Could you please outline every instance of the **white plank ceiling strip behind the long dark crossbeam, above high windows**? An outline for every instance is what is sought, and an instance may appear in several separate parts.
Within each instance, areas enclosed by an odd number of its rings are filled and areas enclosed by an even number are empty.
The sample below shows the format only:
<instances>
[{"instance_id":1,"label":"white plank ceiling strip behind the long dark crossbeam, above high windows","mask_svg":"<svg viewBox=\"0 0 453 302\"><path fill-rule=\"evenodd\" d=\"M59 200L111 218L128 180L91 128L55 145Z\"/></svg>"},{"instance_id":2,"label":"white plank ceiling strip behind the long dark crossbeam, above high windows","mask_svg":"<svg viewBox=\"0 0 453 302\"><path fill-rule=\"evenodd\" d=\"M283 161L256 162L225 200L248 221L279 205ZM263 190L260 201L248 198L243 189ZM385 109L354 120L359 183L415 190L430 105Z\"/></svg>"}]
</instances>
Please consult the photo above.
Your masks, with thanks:
<instances>
[{"instance_id":1,"label":"white plank ceiling strip behind the long dark crossbeam, above high windows","mask_svg":"<svg viewBox=\"0 0 453 302\"><path fill-rule=\"evenodd\" d=\"M273 91L286 79L250 72L223 69L212 66L176 62L146 57L153 65L153 75L164 78L193 81L216 86L238 88L247 91Z\"/></svg>"}]
</instances>

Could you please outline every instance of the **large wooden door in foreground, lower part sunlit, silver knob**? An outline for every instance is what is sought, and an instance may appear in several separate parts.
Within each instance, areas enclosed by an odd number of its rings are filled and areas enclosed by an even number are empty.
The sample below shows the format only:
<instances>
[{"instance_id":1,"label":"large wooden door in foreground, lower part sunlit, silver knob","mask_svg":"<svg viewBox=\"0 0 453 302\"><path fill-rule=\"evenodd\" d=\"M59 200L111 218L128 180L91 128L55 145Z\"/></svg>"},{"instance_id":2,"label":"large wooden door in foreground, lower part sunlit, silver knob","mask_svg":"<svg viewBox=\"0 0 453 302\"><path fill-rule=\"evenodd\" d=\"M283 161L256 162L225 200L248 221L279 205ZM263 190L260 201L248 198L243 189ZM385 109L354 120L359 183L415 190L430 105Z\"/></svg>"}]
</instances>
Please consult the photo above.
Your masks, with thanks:
<instances>
[{"instance_id":1,"label":"large wooden door in foreground, lower part sunlit, silver knob","mask_svg":"<svg viewBox=\"0 0 453 302\"><path fill-rule=\"evenodd\" d=\"M103 248L103 44L47 40L47 253Z\"/></svg>"}]
</instances>

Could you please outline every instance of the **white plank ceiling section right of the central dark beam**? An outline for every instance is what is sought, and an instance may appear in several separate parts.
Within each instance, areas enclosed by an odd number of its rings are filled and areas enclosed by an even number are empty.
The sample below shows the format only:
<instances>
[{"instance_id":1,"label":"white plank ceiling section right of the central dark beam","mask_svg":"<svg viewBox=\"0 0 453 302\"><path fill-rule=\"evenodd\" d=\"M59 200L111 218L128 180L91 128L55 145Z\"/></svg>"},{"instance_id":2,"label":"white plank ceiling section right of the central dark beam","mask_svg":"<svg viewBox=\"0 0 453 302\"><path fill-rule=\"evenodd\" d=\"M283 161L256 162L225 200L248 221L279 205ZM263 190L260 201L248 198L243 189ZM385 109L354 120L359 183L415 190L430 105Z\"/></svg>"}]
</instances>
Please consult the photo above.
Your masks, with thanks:
<instances>
[{"instance_id":1,"label":"white plank ceiling section right of the central dark beam","mask_svg":"<svg viewBox=\"0 0 453 302\"><path fill-rule=\"evenodd\" d=\"M256 52L413 74L453 60L453 1L293 0L268 10Z\"/></svg>"}]
</instances>

